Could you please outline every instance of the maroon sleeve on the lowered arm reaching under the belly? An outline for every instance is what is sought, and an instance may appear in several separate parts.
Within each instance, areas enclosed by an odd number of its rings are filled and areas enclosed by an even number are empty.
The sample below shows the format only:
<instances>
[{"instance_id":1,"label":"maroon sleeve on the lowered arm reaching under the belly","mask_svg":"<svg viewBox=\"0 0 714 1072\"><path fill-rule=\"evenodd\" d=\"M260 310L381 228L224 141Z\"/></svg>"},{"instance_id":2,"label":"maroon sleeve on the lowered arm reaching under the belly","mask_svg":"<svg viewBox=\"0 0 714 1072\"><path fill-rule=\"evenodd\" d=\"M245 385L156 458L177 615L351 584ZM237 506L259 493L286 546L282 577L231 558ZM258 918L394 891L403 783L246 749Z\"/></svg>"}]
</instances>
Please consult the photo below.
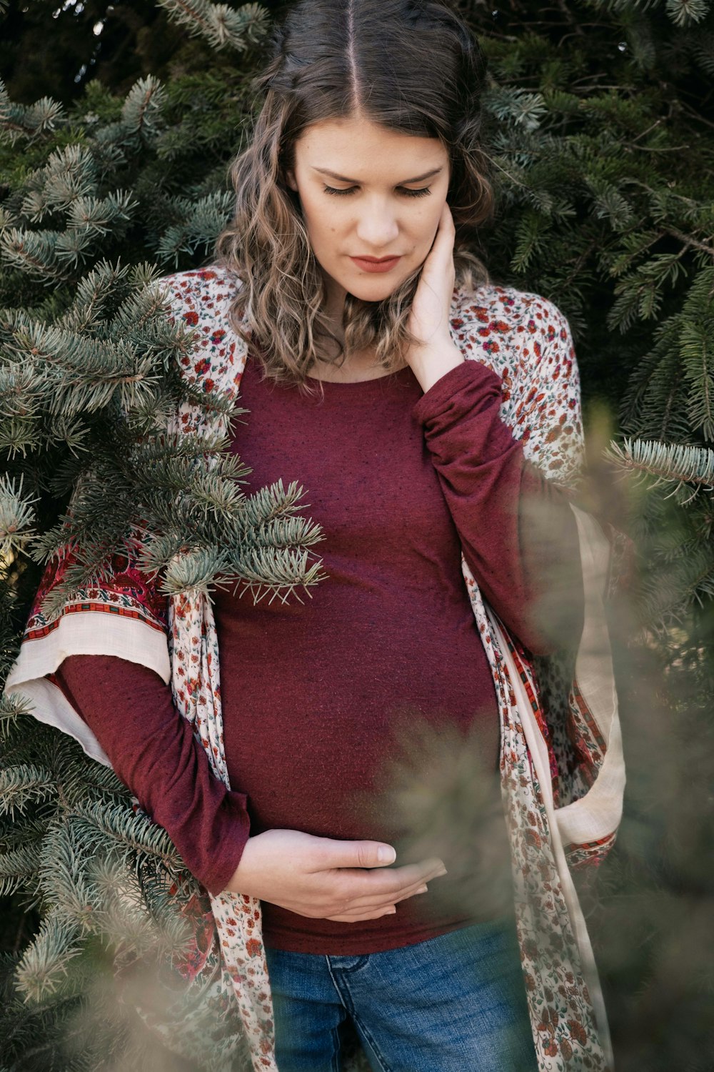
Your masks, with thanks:
<instances>
[{"instance_id":1,"label":"maroon sleeve on the lowered arm reaching under the belly","mask_svg":"<svg viewBox=\"0 0 714 1072\"><path fill-rule=\"evenodd\" d=\"M170 686L112 655L67 656L52 680L188 870L210 893L225 890L248 838L247 799L213 774Z\"/></svg>"}]
</instances>

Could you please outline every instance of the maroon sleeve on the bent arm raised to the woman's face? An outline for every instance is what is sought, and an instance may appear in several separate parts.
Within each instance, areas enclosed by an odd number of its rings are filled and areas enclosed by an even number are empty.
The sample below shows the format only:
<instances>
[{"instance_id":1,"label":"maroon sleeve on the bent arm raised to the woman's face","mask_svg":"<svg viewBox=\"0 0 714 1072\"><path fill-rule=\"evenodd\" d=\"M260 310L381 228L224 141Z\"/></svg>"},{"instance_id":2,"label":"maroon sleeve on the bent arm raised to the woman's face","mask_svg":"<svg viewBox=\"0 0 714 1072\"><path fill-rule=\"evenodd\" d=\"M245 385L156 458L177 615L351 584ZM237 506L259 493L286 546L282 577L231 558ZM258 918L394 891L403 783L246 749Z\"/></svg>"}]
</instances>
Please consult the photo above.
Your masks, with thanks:
<instances>
[{"instance_id":1,"label":"maroon sleeve on the bent arm raised to the woman's face","mask_svg":"<svg viewBox=\"0 0 714 1072\"><path fill-rule=\"evenodd\" d=\"M485 599L533 654L582 631L577 525L568 500L523 455L500 416L501 377L465 360L414 406Z\"/></svg>"}]
</instances>

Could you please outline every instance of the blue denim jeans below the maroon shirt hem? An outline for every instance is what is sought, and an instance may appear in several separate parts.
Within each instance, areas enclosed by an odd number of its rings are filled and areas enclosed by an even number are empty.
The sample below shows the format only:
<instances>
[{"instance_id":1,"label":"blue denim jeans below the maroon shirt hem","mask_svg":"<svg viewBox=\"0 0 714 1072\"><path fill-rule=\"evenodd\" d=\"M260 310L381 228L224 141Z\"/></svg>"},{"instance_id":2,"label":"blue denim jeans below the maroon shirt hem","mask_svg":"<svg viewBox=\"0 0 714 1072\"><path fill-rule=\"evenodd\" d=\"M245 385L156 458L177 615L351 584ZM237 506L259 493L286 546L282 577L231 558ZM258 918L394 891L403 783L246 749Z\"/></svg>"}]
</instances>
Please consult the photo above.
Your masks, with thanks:
<instances>
[{"instance_id":1,"label":"blue denim jeans below the maroon shirt hem","mask_svg":"<svg viewBox=\"0 0 714 1072\"><path fill-rule=\"evenodd\" d=\"M375 1072L536 1072L510 918L381 953L265 955L279 1072L338 1072L348 1016Z\"/></svg>"}]
</instances>

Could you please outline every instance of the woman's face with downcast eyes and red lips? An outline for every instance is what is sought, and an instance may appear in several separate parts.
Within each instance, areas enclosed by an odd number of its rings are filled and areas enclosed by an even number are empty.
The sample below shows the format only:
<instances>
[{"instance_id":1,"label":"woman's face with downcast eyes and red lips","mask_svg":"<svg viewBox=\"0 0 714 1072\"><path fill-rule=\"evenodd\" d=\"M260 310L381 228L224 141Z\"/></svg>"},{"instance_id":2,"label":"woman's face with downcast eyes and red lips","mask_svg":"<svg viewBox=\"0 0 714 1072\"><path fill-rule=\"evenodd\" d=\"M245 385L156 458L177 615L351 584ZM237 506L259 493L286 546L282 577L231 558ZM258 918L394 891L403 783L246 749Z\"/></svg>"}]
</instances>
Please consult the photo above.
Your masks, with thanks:
<instances>
[{"instance_id":1,"label":"woman's face with downcast eyes and red lips","mask_svg":"<svg viewBox=\"0 0 714 1072\"><path fill-rule=\"evenodd\" d=\"M298 192L310 245L328 285L328 312L341 321L345 294L389 297L424 263L449 190L449 154L366 119L308 126L286 175ZM354 257L396 257L369 271Z\"/></svg>"}]
</instances>

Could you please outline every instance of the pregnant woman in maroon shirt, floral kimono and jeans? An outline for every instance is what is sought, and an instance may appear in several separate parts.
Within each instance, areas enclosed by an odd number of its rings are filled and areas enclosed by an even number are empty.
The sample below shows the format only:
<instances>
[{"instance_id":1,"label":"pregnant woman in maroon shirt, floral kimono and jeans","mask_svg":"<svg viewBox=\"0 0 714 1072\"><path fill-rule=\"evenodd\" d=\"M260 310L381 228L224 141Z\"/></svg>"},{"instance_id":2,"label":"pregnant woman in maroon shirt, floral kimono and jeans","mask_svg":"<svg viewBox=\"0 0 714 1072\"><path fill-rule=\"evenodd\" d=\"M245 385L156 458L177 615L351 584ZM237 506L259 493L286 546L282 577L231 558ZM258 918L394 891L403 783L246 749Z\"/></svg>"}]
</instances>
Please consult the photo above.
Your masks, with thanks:
<instances>
[{"instance_id":1,"label":"pregnant woman in maroon shirt, floral kimono and jeans","mask_svg":"<svg viewBox=\"0 0 714 1072\"><path fill-rule=\"evenodd\" d=\"M186 378L240 385L249 417L231 449L253 488L309 489L326 577L306 604L252 601L250 585L218 589L213 610L174 601L169 671L146 598L132 614L153 627L148 645L130 621L121 643L71 634L75 614L46 656L57 724L108 758L211 894L255 1068L340 1067L348 1017L374 1069L608 1067L548 840L552 792L534 788L557 775L555 749L535 778L513 717L536 687L531 656L574 653L582 631L583 522L532 464L577 472L577 371L557 309L488 285L472 252L490 211L482 84L441 3L290 12L215 263L164 282L196 327ZM468 755L484 819L500 766L518 939L493 892L502 813L457 851L388 812L405 731L452 741L446 763ZM603 829L583 851L611 840Z\"/></svg>"}]
</instances>

